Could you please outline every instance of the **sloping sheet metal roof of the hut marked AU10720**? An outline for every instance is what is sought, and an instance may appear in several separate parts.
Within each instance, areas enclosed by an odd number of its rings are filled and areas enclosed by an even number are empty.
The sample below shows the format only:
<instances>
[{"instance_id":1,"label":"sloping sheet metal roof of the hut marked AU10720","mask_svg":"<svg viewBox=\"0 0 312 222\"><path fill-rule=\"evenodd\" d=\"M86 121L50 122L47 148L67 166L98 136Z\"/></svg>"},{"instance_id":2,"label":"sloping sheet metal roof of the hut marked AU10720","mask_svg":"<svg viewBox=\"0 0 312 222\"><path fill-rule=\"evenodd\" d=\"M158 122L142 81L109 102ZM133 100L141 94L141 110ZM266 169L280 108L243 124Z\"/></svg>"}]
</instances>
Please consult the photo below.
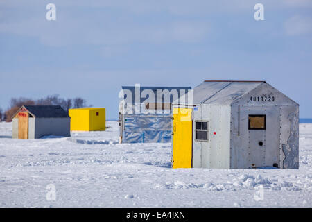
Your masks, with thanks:
<instances>
[{"instance_id":1,"label":"sloping sheet metal roof of the hut marked AU10720","mask_svg":"<svg viewBox=\"0 0 312 222\"><path fill-rule=\"evenodd\" d=\"M231 104L265 81L205 81L193 90L194 104Z\"/></svg>"}]
</instances>

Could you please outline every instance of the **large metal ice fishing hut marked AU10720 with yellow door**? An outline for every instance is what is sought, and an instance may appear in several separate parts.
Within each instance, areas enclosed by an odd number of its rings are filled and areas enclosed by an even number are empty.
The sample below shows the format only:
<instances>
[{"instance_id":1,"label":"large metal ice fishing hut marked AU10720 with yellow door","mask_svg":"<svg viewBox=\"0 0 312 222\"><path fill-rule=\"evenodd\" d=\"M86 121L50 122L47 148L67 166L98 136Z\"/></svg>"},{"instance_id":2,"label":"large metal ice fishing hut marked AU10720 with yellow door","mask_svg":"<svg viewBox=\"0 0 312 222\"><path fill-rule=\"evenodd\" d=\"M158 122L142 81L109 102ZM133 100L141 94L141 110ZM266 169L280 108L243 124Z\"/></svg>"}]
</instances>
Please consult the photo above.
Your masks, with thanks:
<instances>
[{"instance_id":1,"label":"large metal ice fishing hut marked AU10720 with yellow door","mask_svg":"<svg viewBox=\"0 0 312 222\"><path fill-rule=\"evenodd\" d=\"M264 81L205 81L173 103L173 168L299 168L299 105Z\"/></svg>"}]
</instances>

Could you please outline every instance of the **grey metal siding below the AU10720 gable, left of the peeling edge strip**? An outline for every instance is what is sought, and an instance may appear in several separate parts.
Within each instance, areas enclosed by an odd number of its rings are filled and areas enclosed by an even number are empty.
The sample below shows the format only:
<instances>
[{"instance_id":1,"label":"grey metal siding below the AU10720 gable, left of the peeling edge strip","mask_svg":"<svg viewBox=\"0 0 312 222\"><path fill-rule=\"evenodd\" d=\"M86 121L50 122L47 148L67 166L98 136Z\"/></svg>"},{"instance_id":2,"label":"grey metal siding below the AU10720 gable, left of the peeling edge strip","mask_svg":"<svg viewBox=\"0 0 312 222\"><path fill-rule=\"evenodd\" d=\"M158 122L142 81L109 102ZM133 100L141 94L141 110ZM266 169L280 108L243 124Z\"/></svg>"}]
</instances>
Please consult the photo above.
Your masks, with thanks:
<instances>
[{"instance_id":1,"label":"grey metal siding below the AU10720 gable, left of the peeling edge strip","mask_svg":"<svg viewBox=\"0 0 312 222\"><path fill-rule=\"evenodd\" d=\"M266 114L266 130L248 130L250 114ZM240 106L240 123L238 121L238 106L232 106L231 168L279 164L279 107ZM259 146L260 141L263 146Z\"/></svg>"}]
</instances>

